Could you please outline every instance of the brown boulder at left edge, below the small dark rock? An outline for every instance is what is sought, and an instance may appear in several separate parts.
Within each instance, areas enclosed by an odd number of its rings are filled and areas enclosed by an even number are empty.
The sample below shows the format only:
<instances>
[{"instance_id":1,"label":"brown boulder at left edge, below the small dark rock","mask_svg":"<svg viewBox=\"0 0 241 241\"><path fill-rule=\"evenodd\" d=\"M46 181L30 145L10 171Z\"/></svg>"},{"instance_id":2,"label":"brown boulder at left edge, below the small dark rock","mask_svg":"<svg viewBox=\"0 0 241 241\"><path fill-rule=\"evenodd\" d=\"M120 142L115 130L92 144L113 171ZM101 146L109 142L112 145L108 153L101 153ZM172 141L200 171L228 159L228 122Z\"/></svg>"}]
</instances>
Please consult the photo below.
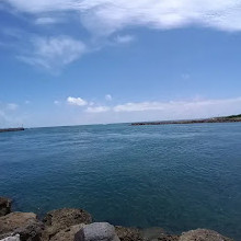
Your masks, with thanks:
<instances>
[{"instance_id":1,"label":"brown boulder at left edge, below the small dark rock","mask_svg":"<svg viewBox=\"0 0 241 241\"><path fill-rule=\"evenodd\" d=\"M44 229L43 222L33 213L11 213L0 217L0 238L20 234L21 240L38 241Z\"/></svg>"}]
</instances>

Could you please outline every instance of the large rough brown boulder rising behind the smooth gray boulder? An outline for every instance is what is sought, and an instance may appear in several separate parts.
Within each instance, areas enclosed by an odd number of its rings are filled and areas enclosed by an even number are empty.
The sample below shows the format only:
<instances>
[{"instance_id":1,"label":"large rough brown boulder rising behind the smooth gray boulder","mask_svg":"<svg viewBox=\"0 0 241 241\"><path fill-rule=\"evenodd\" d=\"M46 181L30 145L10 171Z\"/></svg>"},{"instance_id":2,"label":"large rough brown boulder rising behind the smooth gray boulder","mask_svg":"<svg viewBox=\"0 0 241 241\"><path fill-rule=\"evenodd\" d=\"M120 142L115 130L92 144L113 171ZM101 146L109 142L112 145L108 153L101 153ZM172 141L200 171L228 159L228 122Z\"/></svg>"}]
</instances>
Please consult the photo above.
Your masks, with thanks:
<instances>
[{"instance_id":1,"label":"large rough brown boulder rising behind the smooth gray boulder","mask_svg":"<svg viewBox=\"0 0 241 241\"><path fill-rule=\"evenodd\" d=\"M92 217L83 209L62 208L47 213L43 222L45 225L43 239L50 240L56 233L71 226L92 222Z\"/></svg>"}]
</instances>

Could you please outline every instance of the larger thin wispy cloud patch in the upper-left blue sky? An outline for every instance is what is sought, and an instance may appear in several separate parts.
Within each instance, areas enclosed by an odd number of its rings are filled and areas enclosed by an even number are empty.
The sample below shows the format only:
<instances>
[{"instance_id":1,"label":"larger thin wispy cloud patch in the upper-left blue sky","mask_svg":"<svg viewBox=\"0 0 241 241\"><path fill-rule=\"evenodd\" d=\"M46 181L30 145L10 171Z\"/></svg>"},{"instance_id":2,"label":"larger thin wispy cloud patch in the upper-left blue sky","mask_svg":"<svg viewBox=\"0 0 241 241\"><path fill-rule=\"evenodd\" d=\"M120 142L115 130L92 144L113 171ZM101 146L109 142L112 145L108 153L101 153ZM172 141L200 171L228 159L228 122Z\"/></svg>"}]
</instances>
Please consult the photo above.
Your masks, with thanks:
<instances>
[{"instance_id":1,"label":"larger thin wispy cloud patch in the upper-left blue sky","mask_svg":"<svg viewBox=\"0 0 241 241\"><path fill-rule=\"evenodd\" d=\"M60 68L77 60L87 51L85 45L68 36L35 37L33 49L19 58L30 65L47 69Z\"/></svg>"}]
</instances>

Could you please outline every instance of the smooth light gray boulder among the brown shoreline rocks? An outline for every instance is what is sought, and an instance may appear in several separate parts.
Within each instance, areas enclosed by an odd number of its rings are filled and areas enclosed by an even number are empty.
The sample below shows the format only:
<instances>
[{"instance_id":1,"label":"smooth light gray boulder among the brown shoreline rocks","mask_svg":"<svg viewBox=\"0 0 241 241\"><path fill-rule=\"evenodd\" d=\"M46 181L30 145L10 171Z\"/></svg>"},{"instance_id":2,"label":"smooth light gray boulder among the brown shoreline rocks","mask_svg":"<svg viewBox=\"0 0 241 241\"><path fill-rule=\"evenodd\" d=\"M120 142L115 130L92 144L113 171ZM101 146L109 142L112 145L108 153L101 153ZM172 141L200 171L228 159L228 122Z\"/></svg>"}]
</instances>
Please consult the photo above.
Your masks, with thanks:
<instances>
[{"instance_id":1,"label":"smooth light gray boulder among the brown shoreline rocks","mask_svg":"<svg viewBox=\"0 0 241 241\"><path fill-rule=\"evenodd\" d=\"M77 232L74 241L119 241L119 239L114 226L108 222L93 222Z\"/></svg>"}]
</instances>

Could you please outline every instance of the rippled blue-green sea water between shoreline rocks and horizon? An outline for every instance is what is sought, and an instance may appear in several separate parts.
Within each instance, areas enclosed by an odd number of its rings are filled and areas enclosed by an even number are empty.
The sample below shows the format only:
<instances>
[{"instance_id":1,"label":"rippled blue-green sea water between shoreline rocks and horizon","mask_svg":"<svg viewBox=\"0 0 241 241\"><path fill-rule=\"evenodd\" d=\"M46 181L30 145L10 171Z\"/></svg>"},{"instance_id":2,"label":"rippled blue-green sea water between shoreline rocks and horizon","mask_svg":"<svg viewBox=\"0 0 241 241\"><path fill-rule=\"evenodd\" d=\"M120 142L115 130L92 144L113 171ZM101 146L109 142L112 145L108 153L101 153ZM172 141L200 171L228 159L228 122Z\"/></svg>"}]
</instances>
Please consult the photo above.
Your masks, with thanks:
<instances>
[{"instance_id":1,"label":"rippled blue-green sea water between shoreline rocks and horizon","mask_svg":"<svg viewBox=\"0 0 241 241\"><path fill-rule=\"evenodd\" d=\"M241 123L96 125L0 134L0 195L14 208L241 240Z\"/></svg>"}]
</instances>

